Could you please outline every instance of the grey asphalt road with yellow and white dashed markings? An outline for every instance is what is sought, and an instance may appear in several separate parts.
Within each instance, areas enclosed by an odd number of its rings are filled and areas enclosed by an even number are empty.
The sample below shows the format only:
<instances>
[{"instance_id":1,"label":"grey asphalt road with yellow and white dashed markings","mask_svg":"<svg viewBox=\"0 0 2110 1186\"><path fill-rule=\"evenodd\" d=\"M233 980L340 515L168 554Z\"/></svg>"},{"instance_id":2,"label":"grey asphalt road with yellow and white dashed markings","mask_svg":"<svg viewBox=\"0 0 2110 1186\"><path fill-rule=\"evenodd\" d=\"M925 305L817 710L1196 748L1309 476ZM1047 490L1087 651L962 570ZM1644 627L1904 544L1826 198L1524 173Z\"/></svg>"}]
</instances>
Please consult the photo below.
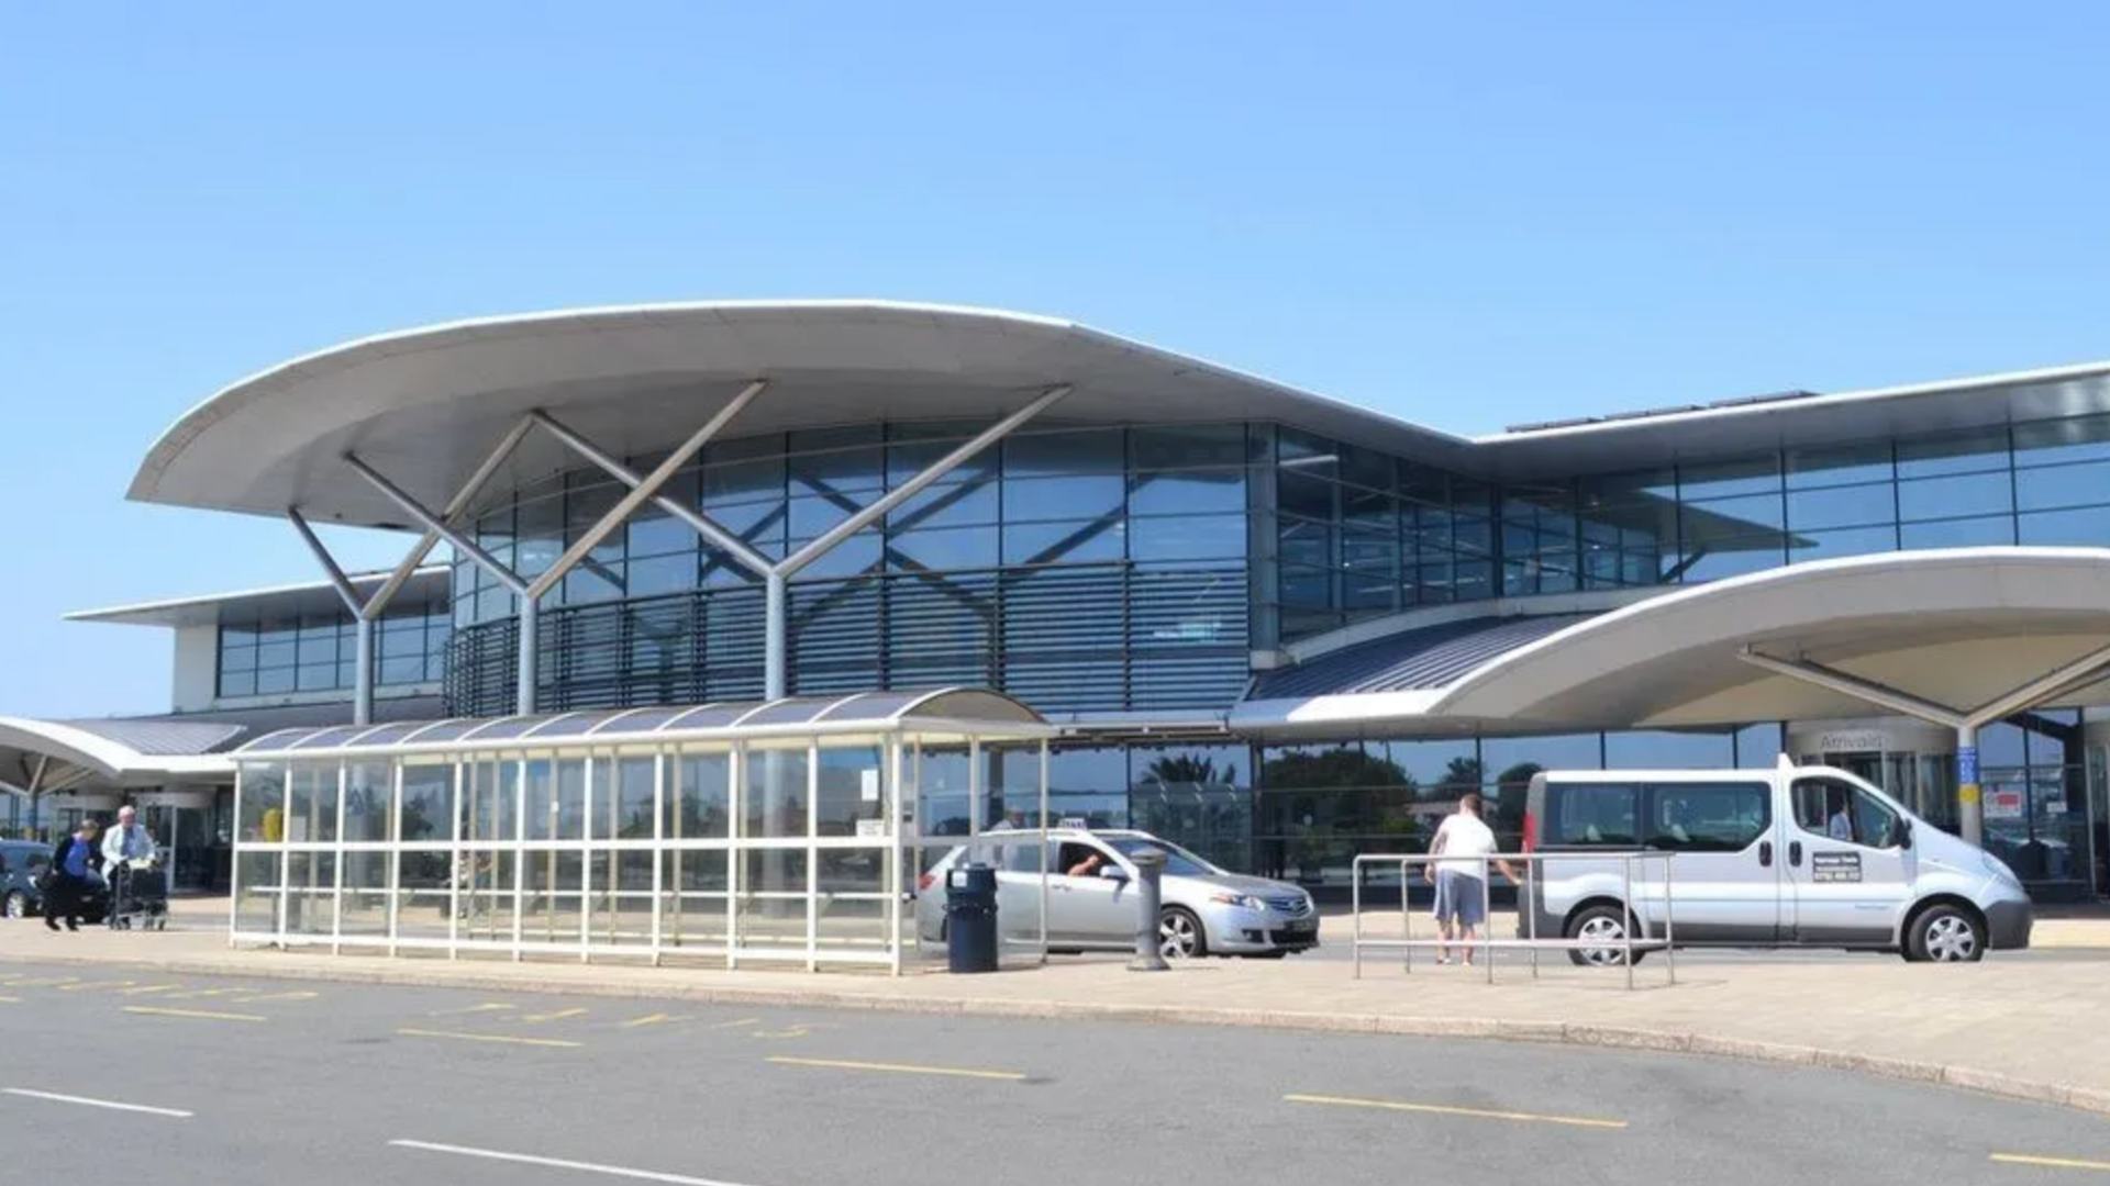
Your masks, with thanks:
<instances>
[{"instance_id":1,"label":"grey asphalt road with yellow and white dashed markings","mask_svg":"<svg viewBox=\"0 0 2110 1186\"><path fill-rule=\"evenodd\" d=\"M36 967L0 1040L6 1182L2110 1182L2080 1112L1498 1042Z\"/></svg>"}]
</instances>

